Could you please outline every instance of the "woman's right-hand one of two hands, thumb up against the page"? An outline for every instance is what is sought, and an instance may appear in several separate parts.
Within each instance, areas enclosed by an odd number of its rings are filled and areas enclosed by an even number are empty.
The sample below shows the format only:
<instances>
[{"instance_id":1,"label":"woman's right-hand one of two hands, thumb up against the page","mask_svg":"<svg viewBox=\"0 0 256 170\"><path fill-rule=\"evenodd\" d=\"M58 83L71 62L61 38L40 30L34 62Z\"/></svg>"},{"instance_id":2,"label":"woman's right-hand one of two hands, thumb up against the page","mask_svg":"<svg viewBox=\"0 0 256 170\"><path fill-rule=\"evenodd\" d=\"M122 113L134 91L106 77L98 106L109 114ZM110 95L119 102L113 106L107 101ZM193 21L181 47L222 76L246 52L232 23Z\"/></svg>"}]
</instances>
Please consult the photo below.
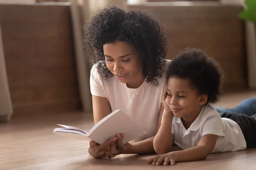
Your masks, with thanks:
<instances>
[{"instance_id":1,"label":"woman's right-hand one of two hands, thumb up against the page","mask_svg":"<svg viewBox=\"0 0 256 170\"><path fill-rule=\"evenodd\" d=\"M111 159L116 155L126 153L129 147L131 147L131 144L129 142L123 144L122 140L124 139L124 134L116 134L116 138L117 143L111 144L111 146L107 148L106 156L108 157L108 159Z\"/></svg>"}]
</instances>

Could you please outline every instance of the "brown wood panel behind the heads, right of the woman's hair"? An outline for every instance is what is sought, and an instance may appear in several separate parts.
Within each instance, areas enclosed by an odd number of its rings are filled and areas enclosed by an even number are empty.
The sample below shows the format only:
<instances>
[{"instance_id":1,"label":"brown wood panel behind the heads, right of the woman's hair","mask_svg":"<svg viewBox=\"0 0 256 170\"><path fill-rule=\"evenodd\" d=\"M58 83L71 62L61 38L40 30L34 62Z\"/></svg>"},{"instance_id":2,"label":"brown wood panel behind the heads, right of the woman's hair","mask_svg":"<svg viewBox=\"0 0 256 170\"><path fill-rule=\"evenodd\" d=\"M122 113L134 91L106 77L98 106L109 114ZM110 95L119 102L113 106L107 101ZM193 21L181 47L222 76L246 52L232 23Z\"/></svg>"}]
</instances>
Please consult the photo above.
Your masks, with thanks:
<instances>
[{"instance_id":1,"label":"brown wood panel behind the heads, right of the woman's hair","mask_svg":"<svg viewBox=\"0 0 256 170\"><path fill-rule=\"evenodd\" d=\"M201 48L220 62L224 89L247 88L244 24L238 18L241 6L197 2L188 6L159 3L128 8L147 11L163 23L169 39L169 59L186 47Z\"/></svg>"}]
</instances>

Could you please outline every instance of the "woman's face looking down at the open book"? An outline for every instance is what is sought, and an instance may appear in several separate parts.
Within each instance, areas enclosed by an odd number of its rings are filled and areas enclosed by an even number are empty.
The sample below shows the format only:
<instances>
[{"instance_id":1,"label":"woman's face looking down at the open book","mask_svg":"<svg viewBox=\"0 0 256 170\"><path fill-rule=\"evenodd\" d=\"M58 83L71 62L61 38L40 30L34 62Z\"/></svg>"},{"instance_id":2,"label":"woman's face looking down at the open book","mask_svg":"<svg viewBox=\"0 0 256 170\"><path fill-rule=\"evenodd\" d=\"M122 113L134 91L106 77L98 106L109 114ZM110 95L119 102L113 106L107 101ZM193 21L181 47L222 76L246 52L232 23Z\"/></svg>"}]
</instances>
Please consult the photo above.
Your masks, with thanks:
<instances>
[{"instance_id":1,"label":"woman's face looking down at the open book","mask_svg":"<svg viewBox=\"0 0 256 170\"><path fill-rule=\"evenodd\" d=\"M138 88L144 81L141 59L134 47L124 41L103 45L105 61L111 73L128 88Z\"/></svg>"}]
</instances>

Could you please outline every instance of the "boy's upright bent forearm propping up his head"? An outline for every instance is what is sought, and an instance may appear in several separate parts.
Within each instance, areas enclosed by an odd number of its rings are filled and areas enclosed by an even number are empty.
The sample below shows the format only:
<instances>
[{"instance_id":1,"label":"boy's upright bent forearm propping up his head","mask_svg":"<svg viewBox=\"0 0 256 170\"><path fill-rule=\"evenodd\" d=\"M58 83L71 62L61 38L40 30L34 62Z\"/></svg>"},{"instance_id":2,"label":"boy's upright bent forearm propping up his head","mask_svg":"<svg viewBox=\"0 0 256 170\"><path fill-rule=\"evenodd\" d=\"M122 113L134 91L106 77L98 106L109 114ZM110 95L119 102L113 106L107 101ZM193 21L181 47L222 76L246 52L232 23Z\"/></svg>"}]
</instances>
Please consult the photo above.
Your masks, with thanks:
<instances>
[{"instance_id":1,"label":"boy's upright bent forearm propping up his head","mask_svg":"<svg viewBox=\"0 0 256 170\"><path fill-rule=\"evenodd\" d=\"M172 148L172 119L173 113L166 111L163 115L163 121L154 138L153 147L157 154L168 153Z\"/></svg>"}]
</instances>

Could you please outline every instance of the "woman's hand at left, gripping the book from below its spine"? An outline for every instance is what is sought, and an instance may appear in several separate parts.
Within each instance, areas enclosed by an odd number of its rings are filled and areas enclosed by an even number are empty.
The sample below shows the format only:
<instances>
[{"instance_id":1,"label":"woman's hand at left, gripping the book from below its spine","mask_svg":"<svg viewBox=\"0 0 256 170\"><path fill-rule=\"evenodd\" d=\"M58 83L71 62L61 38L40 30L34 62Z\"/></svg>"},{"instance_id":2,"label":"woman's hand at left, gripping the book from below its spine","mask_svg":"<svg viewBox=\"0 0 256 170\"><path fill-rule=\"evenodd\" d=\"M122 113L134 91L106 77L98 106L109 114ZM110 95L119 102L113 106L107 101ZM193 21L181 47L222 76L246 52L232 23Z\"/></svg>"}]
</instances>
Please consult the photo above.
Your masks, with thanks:
<instances>
[{"instance_id":1,"label":"woman's hand at left, gripping the book from below its spine","mask_svg":"<svg viewBox=\"0 0 256 170\"><path fill-rule=\"evenodd\" d=\"M111 138L107 142L103 144L97 144L94 141L90 141L90 147L88 149L88 153L90 156L93 156L94 158L102 158L106 156L106 151L111 144L114 144L116 142L117 138Z\"/></svg>"}]
</instances>

